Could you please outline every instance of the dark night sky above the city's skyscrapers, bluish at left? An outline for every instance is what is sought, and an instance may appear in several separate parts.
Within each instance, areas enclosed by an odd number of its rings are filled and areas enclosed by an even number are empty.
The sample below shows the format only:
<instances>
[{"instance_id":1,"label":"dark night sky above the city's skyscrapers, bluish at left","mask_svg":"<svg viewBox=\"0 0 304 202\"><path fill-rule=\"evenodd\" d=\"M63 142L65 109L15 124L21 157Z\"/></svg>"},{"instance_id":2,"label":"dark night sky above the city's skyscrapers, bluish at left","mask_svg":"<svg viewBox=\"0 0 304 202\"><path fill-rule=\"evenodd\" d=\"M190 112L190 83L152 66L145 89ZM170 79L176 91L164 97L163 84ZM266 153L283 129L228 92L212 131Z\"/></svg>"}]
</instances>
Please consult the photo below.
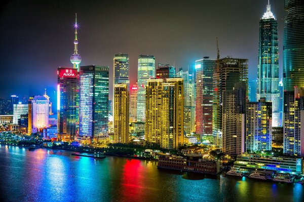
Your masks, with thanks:
<instances>
[{"instance_id":1,"label":"dark night sky above the city's skyscrapers, bluish at left","mask_svg":"<svg viewBox=\"0 0 304 202\"><path fill-rule=\"evenodd\" d=\"M249 79L257 76L259 19L267 0L186 1L6 1L0 3L0 97L43 94L55 99L58 67L72 67L73 21L77 13L81 65L110 67L128 53L130 82L137 79L138 55L156 64L193 68L204 56L249 59ZM271 0L279 24L282 69L284 0Z\"/></svg>"}]
</instances>

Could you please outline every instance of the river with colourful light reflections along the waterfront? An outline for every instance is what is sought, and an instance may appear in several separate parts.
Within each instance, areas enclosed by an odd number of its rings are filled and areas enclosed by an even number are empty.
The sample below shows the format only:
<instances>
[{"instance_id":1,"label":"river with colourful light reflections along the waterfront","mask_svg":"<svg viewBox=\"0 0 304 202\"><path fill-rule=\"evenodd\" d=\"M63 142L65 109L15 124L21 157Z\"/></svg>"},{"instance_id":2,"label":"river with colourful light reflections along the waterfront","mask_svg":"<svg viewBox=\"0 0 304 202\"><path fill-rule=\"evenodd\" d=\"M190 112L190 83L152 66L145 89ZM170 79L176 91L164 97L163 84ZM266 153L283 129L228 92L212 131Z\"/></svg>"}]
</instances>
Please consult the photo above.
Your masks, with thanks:
<instances>
[{"instance_id":1,"label":"river with colourful light reflections along the waterfront","mask_svg":"<svg viewBox=\"0 0 304 202\"><path fill-rule=\"evenodd\" d=\"M304 201L304 186L0 145L0 201Z\"/></svg>"}]
</instances>

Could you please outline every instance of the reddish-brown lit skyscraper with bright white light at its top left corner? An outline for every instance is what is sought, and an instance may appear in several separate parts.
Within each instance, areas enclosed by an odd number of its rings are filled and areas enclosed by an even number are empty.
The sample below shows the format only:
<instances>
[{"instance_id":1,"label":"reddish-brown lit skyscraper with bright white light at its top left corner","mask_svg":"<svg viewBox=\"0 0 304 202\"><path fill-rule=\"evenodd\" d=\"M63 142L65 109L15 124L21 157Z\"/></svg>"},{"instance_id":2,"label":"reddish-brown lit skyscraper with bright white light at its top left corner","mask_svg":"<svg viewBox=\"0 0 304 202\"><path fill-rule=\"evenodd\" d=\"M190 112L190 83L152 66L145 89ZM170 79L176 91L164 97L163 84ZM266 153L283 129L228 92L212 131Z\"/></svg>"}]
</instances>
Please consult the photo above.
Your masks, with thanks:
<instances>
[{"instance_id":1,"label":"reddish-brown lit skyscraper with bright white light at its top left corner","mask_svg":"<svg viewBox=\"0 0 304 202\"><path fill-rule=\"evenodd\" d=\"M196 69L196 133L212 135L213 71L215 60L204 57L195 61Z\"/></svg>"}]
</instances>

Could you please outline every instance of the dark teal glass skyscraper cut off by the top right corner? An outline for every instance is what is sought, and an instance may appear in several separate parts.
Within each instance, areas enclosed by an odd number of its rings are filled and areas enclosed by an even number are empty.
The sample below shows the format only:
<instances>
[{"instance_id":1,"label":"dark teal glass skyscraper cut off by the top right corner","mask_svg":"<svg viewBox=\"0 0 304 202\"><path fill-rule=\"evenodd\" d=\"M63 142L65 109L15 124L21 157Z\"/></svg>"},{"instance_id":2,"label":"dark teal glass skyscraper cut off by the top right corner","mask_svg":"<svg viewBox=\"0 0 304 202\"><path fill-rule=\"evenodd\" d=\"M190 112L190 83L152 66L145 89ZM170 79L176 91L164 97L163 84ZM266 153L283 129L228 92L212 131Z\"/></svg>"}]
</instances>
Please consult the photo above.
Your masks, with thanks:
<instances>
[{"instance_id":1,"label":"dark teal glass skyscraper cut off by the top right corner","mask_svg":"<svg viewBox=\"0 0 304 202\"><path fill-rule=\"evenodd\" d=\"M285 0L285 10L283 83L284 90L293 91L294 86L304 86L303 0Z\"/></svg>"}]
</instances>

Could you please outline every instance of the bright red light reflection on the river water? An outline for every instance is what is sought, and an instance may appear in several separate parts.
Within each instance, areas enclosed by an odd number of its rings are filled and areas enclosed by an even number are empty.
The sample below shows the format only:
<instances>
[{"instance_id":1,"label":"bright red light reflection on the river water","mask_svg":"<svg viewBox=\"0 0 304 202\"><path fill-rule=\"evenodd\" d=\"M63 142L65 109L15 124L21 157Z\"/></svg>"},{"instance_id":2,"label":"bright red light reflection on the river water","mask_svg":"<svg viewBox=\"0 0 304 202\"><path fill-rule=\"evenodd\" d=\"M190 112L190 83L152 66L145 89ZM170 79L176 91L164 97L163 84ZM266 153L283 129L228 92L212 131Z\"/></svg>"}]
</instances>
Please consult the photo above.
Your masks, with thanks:
<instances>
[{"instance_id":1,"label":"bright red light reflection on the river water","mask_svg":"<svg viewBox=\"0 0 304 202\"><path fill-rule=\"evenodd\" d=\"M143 193L143 171L140 160L127 160L122 176L122 199L126 201L145 201Z\"/></svg>"}]
</instances>

